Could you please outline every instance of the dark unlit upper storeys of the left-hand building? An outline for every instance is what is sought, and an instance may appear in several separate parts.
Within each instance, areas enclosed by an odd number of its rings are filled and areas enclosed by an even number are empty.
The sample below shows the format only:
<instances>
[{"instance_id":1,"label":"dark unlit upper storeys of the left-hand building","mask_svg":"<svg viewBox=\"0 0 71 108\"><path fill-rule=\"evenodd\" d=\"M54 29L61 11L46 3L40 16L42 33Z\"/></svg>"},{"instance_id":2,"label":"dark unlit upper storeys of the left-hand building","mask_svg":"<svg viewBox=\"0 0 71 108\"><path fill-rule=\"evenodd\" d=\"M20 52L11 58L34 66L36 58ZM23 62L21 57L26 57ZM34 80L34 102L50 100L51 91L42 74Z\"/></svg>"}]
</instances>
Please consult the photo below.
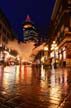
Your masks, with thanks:
<instances>
[{"instance_id":1,"label":"dark unlit upper storeys of the left-hand building","mask_svg":"<svg viewBox=\"0 0 71 108\"><path fill-rule=\"evenodd\" d=\"M2 10L0 10L0 44L6 44L8 40L13 40L14 38L12 27Z\"/></svg>"}]
</instances>

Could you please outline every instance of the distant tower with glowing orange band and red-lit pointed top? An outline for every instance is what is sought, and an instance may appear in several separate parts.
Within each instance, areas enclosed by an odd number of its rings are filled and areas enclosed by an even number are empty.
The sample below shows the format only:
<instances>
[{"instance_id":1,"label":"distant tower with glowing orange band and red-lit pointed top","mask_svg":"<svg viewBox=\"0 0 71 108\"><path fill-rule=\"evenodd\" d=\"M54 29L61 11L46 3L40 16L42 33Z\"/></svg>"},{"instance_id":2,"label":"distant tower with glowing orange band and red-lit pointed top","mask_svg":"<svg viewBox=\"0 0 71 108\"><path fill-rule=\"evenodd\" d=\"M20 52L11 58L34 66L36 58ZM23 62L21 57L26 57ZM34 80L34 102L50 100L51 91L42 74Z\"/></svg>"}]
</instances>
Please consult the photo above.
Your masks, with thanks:
<instances>
[{"instance_id":1,"label":"distant tower with glowing orange band and red-lit pointed top","mask_svg":"<svg viewBox=\"0 0 71 108\"><path fill-rule=\"evenodd\" d=\"M26 21L23 24L23 36L24 42L38 42L38 32L35 25L31 22L29 15L27 15Z\"/></svg>"}]
</instances>

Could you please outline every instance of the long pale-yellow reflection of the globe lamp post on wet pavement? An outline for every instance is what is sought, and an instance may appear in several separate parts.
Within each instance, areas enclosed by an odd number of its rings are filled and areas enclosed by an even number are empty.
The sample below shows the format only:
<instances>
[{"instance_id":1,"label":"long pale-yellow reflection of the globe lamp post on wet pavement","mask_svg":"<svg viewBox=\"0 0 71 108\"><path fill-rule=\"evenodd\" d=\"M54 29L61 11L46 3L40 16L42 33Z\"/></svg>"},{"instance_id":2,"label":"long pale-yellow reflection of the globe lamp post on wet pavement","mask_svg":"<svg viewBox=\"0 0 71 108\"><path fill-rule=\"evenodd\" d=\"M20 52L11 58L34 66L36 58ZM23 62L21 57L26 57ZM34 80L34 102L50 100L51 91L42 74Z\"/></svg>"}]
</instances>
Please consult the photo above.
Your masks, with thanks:
<instances>
[{"instance_id":1,"label":"long pale-yellow reflection of the globe lamp post on wet pavement","mask_svg":"<svg viewBox=\"0 0 71 108\"><path fill-rule=\"evenodd\" d=\"M61 99L61 90L59 85L59 73L53 68L51 71L51 88L50 88L50 102L59 103Z\"/></svg>"}]
</instances>

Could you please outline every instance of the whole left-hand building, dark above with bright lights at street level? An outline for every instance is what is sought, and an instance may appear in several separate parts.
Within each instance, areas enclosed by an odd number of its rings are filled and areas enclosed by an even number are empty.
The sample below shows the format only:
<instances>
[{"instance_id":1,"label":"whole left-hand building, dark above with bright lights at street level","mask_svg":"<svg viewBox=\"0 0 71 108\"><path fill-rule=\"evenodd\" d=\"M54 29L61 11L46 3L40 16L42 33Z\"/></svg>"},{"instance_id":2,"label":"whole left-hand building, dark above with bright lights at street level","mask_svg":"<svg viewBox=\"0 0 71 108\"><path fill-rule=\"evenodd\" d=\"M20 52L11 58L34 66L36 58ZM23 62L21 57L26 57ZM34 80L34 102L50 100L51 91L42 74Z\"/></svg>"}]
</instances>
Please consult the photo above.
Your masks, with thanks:
<instances>
[{"instance_id":1,"label":"whole left-hand building, dark above with bright lights at street level","mask_svg":"<svg viewBox=\"0 0 71 108\"><path fill-rule=\"evenodd\" d=\"M6 48L8 41L13 41L15 38L15 33L8 19L0 9L0 63L5 59L5 52L10 52L9 48Z\"/></svg>"}]
</instances>

